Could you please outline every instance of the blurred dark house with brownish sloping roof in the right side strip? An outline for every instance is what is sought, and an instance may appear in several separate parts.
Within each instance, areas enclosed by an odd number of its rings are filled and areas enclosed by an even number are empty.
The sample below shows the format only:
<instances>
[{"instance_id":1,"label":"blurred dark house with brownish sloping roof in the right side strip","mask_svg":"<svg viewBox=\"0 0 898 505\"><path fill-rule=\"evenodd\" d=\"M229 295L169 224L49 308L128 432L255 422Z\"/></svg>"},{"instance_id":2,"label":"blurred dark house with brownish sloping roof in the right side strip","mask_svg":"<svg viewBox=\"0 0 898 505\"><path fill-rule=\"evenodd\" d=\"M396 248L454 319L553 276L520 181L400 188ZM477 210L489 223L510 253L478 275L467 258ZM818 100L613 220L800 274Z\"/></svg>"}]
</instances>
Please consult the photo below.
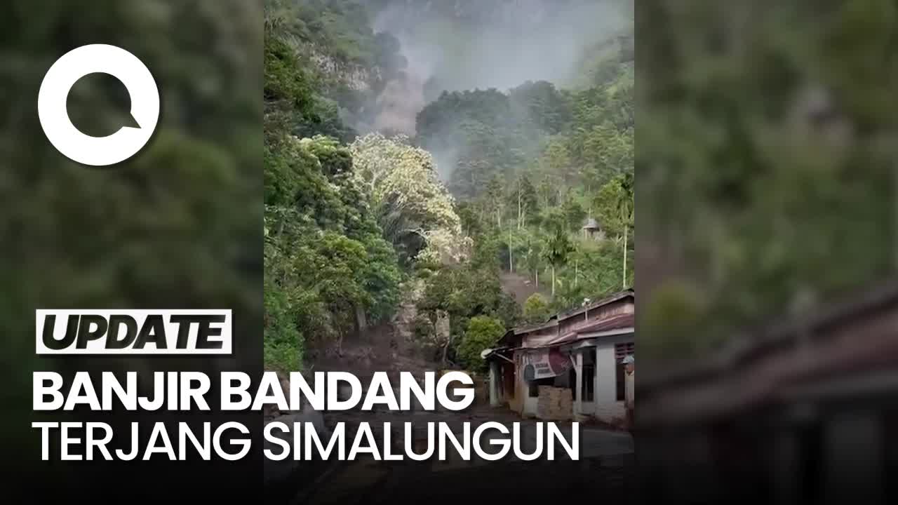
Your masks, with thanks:
<instances>
[{"instance_id":1,"label":"blurred dark house with brownish sloping roof in the right side strip","mask_svg":"<svg viewBox=\"0 0 898 505\"><path fill-rule=\"evenodd\" d=\"M642 368L643 498L898 501L898 279L742 335Z\"/></svg>"}]
</instances>

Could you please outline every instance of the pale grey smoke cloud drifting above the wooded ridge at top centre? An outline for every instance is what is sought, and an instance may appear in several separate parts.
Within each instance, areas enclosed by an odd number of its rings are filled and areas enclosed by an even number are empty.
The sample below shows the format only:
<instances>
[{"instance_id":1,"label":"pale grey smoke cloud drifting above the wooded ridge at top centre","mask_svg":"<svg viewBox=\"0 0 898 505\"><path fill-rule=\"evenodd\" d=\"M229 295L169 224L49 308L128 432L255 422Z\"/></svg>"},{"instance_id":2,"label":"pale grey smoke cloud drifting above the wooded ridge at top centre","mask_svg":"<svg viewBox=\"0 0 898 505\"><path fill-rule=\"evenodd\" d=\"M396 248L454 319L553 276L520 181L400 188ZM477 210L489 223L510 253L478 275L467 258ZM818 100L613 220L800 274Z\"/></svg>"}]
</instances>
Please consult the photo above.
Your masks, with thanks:
<instances>
[{"instance_id":1,"label":"pale grey smoke cloud drifting above the wooded ridge at top centre","mask_svg":"<svg viewBox=\"0 0 898 505\"><path fill-rule=\"evenodd\" d=\"M631 22L631 4L619 0L395 0L373 28L400 41L408 66L378 96L372 126L413 136L418 111L443 91L564 86L586 49Z\"/></svg>"}]
</instances>

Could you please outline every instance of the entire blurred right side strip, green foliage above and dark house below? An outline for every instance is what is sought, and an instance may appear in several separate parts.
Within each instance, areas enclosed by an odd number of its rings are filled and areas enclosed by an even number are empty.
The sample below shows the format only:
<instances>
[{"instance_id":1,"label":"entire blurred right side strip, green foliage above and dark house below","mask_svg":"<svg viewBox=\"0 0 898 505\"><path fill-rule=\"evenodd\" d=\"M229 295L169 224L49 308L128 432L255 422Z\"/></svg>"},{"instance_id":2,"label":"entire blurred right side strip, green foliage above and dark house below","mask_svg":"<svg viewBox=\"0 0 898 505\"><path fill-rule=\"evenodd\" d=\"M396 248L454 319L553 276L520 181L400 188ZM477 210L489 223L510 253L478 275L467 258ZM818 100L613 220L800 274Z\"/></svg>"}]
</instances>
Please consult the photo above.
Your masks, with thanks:
<instances>
[{"instance_id":1,"label":"entire blurred right side strip, green foliage above and dark house below","mask_svg":"<svg viewBox=\"0 0 898 505\"><path fill-rule=\"evenodd\" d=\"M650 497L898 498L896 16L637 3Z\"/></svg>"}]
</instances>

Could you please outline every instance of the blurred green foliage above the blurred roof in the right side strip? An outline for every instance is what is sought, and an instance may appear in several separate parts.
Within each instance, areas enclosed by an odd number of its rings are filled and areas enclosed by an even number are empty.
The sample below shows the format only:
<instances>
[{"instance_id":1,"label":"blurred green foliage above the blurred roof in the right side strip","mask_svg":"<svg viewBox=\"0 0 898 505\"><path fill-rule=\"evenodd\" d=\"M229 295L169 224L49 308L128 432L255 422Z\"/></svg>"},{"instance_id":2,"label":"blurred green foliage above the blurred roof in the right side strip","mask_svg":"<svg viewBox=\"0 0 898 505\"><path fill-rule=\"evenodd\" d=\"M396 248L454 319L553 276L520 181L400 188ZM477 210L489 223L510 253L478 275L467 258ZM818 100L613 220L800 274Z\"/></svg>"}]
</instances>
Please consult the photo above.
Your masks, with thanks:
<instances>
[{"instance_id":1,"label":"blurred green foliage above the blurred roof in the right side strip","mask_svg":"<svg viewBox=\"0 0 898 505\"><path fill-rule=\"evenodd\" d=\"M640 349L894 271L894 2L638 9Z\"/></svg>"}]
</instances>

